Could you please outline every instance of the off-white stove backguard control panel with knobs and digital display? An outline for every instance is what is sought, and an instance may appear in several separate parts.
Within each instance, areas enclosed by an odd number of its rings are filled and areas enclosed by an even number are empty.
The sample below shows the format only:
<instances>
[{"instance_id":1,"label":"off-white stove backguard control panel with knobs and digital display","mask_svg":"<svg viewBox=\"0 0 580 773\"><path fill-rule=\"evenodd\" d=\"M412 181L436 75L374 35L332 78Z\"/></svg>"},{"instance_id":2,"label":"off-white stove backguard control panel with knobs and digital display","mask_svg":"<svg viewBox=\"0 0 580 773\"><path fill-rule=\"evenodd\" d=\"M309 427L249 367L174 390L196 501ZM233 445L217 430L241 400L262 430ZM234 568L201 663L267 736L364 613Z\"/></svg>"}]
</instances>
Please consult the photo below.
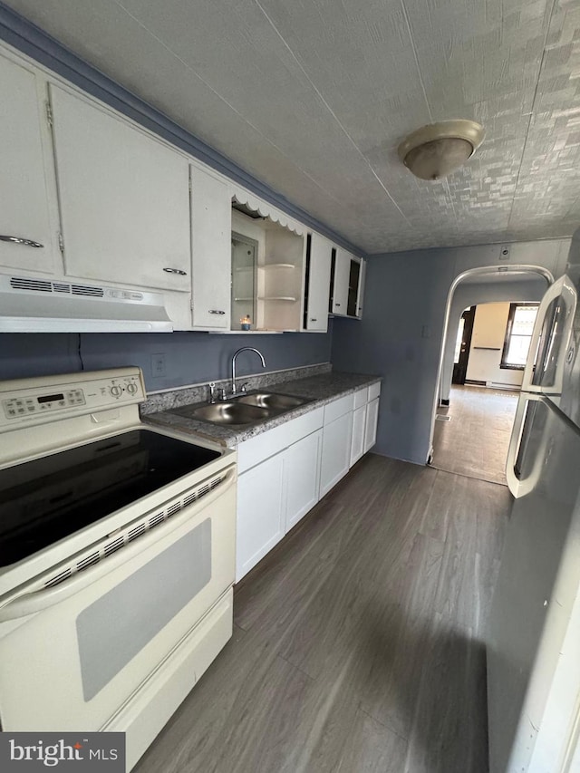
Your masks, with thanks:
<instances>
[{"instance_id":1,"label":"off-white stove backguard control panel with knobs and digital display","mask_svg":"<svg viewBox=\"0 0 580 773\"><path fill-rule=\"evenodd\" d=\"M65 419L145 400L139 368L0 382L0 429L21 421Z\"/></svg>"}]
</instances>

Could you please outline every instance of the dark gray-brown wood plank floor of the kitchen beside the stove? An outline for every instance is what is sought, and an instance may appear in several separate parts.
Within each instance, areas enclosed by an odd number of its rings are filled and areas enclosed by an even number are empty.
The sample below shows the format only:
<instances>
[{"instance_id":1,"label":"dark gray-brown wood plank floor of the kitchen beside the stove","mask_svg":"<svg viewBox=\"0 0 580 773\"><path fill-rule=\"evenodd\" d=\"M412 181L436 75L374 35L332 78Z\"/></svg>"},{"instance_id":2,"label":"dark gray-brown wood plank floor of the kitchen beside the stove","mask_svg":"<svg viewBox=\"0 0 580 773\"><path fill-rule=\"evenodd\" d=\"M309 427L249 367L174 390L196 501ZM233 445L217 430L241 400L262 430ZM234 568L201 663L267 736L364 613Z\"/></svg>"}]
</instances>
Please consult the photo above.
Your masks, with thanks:
<instances>
[{"instance_id":1,"label":"dark gray-brown wood plank floor of the kitchen beside the stove","mask_svg":"<svg viewBox=\"0 0 580 773\"><path fill-rule=\"evenodd\" d=\"M507 488L368 454L237 586L138 773L486 773Z\"/></svg>"}]
</instances>

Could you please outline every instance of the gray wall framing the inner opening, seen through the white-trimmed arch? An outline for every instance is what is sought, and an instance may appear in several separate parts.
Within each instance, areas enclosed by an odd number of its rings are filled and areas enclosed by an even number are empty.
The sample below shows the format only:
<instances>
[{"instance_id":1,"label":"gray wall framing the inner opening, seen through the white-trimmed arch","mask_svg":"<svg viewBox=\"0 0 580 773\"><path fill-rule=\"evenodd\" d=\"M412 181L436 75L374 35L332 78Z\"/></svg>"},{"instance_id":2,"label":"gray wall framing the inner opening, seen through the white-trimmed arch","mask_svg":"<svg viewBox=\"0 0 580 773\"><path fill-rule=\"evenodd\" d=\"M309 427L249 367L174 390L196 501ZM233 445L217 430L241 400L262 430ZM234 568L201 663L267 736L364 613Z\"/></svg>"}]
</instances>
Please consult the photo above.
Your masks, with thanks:
<instances>
[{"instance_id":1,"label":"gray wall framing the inner opening, seen through the white-trimmed arch","mask_svg":"<svg viewBox=\"0 0 580 773\"><path fill-rule=\"evenodd\" d=\"M506 280L505 282L485 283L477 285L458 285L453 293L449 312L449 328L445 342L445 355L443 370L441 372L442 400L449 400L451 378L453 376L453 360L455 355L455 341L459 326L459 318L464 309L477 304L492 304L498 301L540 301L546 292L546 280L521 279L520 281Z\"/></svg>"}]
</instances>

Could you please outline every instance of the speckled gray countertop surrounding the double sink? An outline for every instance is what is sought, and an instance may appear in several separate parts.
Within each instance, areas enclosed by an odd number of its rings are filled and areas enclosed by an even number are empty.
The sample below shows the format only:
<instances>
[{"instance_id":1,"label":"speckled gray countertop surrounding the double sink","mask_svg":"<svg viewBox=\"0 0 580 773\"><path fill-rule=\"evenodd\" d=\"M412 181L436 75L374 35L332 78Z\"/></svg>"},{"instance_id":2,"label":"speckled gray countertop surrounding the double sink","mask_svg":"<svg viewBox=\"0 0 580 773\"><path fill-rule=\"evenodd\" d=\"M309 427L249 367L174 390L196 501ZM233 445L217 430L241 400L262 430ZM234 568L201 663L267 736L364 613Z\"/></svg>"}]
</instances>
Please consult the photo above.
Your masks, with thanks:
<instances>
[{"instance_id":1,"label":"speckled gray countertop surrounding the double sink","mask_svg":"<svg viewBox=\"0 0 580 773\"><path fill-rule=\"evenodd\" d=\"M362 373L341 373L324 372L307 378L293 379L290 381L275 382L269 385L270 391L280 392L282 394L292 394L298 397L306 397L311 400L304 405L299 405L291 411L275 416L272 419L261 421L256 424L243 426L224 426L219 424L208 424L205 421L189 419L175 412L176 406L170 407L166 411L155 413L145 412L142 420L161 427L170 427L174 430L187 432L188 434L199 435L209 440L223 443L228 448L236 448L238 443L244 440L260 435L262 432L272 430L286 421L303 416L304 413L313 411L315 408L332 402L338 397L350 394L370 386L373 383L380 382L379 376L365 375ZM248 384L248 391L256 389L255 386ZM181 406L183 403L180 404ZM173 409L173 410L172 410Z\"/></svg>"}]
</instances>

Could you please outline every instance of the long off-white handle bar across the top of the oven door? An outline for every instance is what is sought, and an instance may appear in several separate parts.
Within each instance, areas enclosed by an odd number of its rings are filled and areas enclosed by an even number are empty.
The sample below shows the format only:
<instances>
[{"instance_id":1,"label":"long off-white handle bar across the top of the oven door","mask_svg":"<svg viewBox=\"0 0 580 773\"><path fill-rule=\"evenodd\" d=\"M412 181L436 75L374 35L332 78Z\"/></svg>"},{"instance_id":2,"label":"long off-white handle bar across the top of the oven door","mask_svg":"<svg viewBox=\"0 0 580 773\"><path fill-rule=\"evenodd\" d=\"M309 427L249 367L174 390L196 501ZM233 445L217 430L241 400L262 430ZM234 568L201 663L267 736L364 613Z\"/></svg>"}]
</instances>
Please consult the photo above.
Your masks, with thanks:
<instances>
[{"instance_id":1,"label":"long off-white handle bar across the top of the oven door","mask_svg":"<svg viewBox=\"0 0 580 773\"><path fill-rule=\"evenodd\" d=\"M222 485L215 488L199 502L201 507L199 507L198 513L206 509L218 497L221 497L228 488L234 486L236 479L236 475L230 472ZM15 598L13 597L4 606L0 607L0 623L5 623L8 620L18 620L30 614L43 612L44 609L48 609L54 606L54 604L60 604L60 602L65 601L74 594L80 593L84 588L108 575L113 569L131 561L131 558L139 556L140 553L143 553L150 546L159 543L160 539L164 536L167 536L172 531L175 531L176 528L186 523L192 517L189 510L190 508L186 507L184 510L181 510L179 515L172 516L169 521L165 522L164 526L166 528L160 526L146 532L143 536L130 542L129 545L122 547L121 550L103 558L98 564L94 564L88 569L83 569L82 572L75 573L70 579L64 580L59 585L28 593L24 591L24 593L17 595ZM198 513L195 515L198 515ZM35 582L38 581L36 580Z\"/></svg>"}]
</instances>

